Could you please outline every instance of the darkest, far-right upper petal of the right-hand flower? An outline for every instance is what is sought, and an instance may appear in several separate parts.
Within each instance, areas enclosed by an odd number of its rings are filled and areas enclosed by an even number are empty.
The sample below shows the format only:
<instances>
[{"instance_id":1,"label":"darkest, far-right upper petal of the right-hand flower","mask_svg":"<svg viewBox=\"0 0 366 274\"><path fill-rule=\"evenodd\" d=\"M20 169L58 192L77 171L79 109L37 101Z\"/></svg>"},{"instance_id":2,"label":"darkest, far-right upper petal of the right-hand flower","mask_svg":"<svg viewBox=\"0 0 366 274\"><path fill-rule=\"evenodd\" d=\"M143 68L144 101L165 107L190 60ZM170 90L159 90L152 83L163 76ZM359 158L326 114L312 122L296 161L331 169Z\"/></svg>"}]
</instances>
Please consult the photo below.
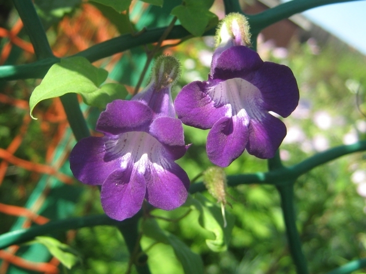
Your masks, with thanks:
<instances>
[{"instance_id":1,"label":"darkest, far-right upper petal of the right-hand flower","mask_svg":"<svg viewBox=\"0 0 366 274\"><path fill-rule=\"evenodd\" d=\"M249 81L261 91L267 111L287 117L296 109L299 103L299 89L289 67L264 62Z\"/></svg>"}]
</instances>

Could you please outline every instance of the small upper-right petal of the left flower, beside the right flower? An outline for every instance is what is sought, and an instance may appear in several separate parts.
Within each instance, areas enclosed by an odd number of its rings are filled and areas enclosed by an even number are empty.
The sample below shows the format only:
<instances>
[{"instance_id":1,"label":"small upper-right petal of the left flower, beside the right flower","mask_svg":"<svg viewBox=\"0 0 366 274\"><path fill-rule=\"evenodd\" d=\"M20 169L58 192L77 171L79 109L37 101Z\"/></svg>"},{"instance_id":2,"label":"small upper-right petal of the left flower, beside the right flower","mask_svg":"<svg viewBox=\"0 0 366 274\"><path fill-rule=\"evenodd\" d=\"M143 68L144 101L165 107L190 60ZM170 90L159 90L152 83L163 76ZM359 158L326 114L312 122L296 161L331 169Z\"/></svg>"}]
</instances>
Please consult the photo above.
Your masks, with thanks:
<instances>
[{"instance_id":1,"label":"small upper-right petal of the left flower, beside the right flower","mask_svg":"<svg viewBox=\"0 0 366 274\"><path fill-rule=\"evenodd\" d=\"M150 135L167 145L184 146L183 125L179 119L158 117L150 125Z\"/></svg>"}]
</instances>

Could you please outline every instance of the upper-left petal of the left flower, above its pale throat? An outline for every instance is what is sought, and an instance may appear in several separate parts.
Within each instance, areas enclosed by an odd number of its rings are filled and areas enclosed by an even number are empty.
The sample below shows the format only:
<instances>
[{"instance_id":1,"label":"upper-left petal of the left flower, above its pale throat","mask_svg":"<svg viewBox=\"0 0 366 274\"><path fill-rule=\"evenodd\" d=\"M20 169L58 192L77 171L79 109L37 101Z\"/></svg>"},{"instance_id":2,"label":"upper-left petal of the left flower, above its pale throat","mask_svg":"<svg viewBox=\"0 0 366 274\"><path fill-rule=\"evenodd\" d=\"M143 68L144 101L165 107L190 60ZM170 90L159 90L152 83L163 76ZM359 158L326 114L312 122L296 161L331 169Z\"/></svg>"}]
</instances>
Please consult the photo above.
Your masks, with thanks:
<instances>
[{"instance_id":1,"label":"upper-left petal of the left flower, above its pale throat","mask_svg":"<svg viewBox=\"0 0 366 274\"><path fill-rule=\"evenodd\" d=\"M118 135L146 130L152 119L151 109L141 102L115 100L107 105L98 119L96 130Z\"/></svg>"}]
</instances>

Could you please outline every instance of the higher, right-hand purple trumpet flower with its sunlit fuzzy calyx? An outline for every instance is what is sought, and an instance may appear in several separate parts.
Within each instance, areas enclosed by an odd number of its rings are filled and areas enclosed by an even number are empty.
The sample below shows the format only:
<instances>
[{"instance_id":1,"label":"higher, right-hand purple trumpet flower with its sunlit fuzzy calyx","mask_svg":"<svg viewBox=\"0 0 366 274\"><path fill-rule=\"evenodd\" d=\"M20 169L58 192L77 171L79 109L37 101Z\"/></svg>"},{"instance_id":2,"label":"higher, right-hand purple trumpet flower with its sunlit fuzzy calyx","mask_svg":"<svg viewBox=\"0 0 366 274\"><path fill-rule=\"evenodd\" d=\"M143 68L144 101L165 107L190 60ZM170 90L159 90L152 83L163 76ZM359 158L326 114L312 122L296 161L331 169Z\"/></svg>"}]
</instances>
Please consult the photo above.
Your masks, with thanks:
<instances>
[{"instance_id":1,"label":"higher, right-hand purple trumpet flower with its sunlit fuzzy calyx","mask_svg":"<svg viewBox=\"0 0 366 274\"><path fill-rule=\"evenodd\" d=\"M263 62L248 48L246 18L229 14L216 34L207 81L183 87L174 105L181 121L211 129L209 159L225 167L245 148L259 158L271 158L286 136L284 123L269 112L289 116L299 102L296 79L287 66Z\"/></svg>"}]
</instances>

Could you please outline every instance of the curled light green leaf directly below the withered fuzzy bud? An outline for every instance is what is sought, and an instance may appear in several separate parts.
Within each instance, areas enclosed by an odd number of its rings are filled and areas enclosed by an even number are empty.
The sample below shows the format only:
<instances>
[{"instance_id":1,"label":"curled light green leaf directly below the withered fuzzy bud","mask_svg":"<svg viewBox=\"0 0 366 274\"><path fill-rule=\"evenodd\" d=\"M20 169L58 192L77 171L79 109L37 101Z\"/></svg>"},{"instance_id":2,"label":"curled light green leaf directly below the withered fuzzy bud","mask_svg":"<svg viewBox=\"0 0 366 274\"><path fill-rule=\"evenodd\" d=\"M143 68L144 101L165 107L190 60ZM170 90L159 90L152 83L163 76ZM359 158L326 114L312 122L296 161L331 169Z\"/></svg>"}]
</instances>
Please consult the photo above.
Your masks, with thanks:
<instances>
[{"instance_id":1,"label":"curled light green leaf directly below the withered fuzzy bud","mask_svg":"<svg viewBox=\"0 0 366 274\"><path fill-rule=\"evenodd\" d=\"M193 207L200 212L200 225L211 232L213 236L206 238L207 246L214 252L227 250L231 231L234 227L234 216L226 212L227 226L224 227L221 208L217 204L207 200L200 193L196 193L195 198L189 195L184 206Z\"/></svg>"}]
</instances>

